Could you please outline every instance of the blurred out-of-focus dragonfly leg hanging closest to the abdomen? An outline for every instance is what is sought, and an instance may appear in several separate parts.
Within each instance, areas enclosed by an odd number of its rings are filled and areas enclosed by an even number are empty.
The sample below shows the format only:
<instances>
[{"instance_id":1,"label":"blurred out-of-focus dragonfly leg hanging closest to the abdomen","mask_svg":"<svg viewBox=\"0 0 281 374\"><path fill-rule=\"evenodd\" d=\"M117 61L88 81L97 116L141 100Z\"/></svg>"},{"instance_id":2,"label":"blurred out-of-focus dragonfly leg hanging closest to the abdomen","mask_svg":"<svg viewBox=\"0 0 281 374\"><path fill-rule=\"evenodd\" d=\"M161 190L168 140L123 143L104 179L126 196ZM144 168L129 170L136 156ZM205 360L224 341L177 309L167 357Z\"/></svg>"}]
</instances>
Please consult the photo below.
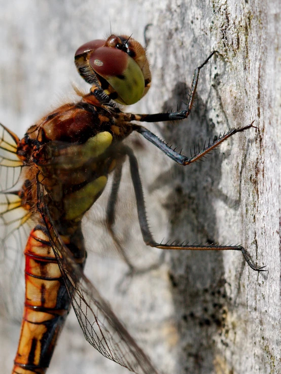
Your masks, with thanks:
<instances>
[{"instance_id":1,"label":"blurred out-of-focus dragonfly leg hanging closest to the abdomen","mask_svg":"<svg viewBox=\"0 0 281 374\"><path fill-rule=\"evenodd\" d=\"M133 271L134 267L131 264L131 261L129 260L125 249L121 245L119 239L117 238L113 230L113 225L115 222L115 207L116 207L121 177L122 177L122 164L118 165L114 171L113 183L112 183L111 193L110 193L110 197L109 197L109 201L107 205L107 211L106 211L106 223L107 223L107 228L110 233L110 236L112 237L112 240L114 241L114 244L117 248L119 255L121 256L121 258L123 258L125 263L128 265L128 267L130 268L130 271Z\"/></svg>"}]
</instances>

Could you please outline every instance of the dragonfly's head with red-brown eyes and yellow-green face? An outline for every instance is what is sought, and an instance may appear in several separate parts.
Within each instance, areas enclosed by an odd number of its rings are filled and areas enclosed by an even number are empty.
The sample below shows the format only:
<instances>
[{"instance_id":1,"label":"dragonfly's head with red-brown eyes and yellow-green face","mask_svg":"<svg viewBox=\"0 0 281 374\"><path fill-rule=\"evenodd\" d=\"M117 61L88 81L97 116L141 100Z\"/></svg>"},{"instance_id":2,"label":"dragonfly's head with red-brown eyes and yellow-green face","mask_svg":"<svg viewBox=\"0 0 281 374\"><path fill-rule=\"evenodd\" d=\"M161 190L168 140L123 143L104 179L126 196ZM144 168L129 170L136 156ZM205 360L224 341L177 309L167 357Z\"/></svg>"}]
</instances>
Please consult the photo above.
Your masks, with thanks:
<instances>
[{"instance_id":1,"label":"dragonfly's head with red-brown eyes and yellow-green face","mask_svg":"<svg viewBox=\"0 0 281 374\"><path fill-rule=\"evenodd\" d=\"M96 84L113 100L130 105L149 90L151 73L146 51L127 35L110 35L107 40L83 44L75 54L83 79Z\"/></svg>"}]
</instances>

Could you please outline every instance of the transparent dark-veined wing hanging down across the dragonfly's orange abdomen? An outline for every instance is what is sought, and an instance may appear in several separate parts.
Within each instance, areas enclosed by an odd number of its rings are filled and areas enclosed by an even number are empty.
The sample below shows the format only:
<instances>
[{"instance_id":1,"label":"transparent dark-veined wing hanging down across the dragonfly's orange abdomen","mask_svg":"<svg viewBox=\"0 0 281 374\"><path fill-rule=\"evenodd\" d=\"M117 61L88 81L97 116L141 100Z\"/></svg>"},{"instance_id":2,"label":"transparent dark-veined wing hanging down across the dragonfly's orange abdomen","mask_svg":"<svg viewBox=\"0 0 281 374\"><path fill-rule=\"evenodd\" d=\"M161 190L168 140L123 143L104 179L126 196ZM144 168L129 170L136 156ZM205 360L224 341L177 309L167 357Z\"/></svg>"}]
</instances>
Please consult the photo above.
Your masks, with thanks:
<instances>
[{"instance_id":1,"label":"transparent dark-veined wing hanging down across the dragonfly's orange abdomen","mask_svg":"<svg viewBox=\"0 0 281 374\"><path fill-rule=\"evenodd\" d=\"M150 359L134 342L97 289L75 263L52 225L44 204L45 191L38 183L38 209L45 221L61 275L86 340L107 357L137 374L157 374Z\"/></svg>"}]
</instances>

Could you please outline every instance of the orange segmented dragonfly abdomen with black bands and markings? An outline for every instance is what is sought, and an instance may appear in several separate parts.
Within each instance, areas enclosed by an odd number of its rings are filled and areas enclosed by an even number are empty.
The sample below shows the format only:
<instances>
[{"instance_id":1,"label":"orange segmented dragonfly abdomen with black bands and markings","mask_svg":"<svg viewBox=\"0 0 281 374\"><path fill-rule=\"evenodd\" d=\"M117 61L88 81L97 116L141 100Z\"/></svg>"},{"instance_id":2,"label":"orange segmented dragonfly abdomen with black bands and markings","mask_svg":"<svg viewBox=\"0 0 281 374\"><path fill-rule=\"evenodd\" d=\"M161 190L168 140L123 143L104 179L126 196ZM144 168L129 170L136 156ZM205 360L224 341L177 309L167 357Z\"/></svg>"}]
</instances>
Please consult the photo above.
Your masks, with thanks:
<instances>
[{"instance_id":1,"label":"orange segmented dragonfly abdomen with black bands and markings","mask_svg":"<svg viewBox=\"0 0 281 374\"><path fill-rule=\"evenodd\" d=\"M44 374L70 300L43 227L31 231L24 254L25 305L12 374Z\"/></svg>"}]
</instances>

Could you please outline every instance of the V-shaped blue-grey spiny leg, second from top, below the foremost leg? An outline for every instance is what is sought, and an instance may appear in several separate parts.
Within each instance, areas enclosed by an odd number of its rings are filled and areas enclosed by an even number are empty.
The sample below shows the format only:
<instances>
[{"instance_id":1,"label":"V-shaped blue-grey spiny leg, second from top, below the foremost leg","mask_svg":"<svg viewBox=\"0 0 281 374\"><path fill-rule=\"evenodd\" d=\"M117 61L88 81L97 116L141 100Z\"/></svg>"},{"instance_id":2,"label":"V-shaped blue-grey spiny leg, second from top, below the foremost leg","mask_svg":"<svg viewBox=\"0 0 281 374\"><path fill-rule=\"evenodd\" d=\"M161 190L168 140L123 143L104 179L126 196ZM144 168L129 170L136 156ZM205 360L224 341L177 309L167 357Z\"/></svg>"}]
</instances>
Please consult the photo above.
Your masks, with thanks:
<instances>
[{"instance_id":1,"label":"V-shaped blue-grey spiny leg, second from top, below the foremost leg","mask_svg":"<svg viewBox=\"0 0 281 374\"><path fill-rule=\"evenodd\" d=\"M165 155L170 157L173 161L177 162L180 165L189 165L197 160L199 160L201 157L204 157L208 152L212 151L212 149L216 148L218 145L220 145L223 141L228 139L230 136L236 134L237 132L241 132L247 129L250 129L253 126L254 121L244 127L240 127L238 129L230 129L226 134L223 136L219 136L217 139L214 139L213 143L208 143L207 146L204 145L203 149L198 149L198 152L195 153L191 157L187 157L185 155L182 155L181 153L175 152L175 148L172 149L170 146L168 146L163 140L160 140L158 136L153 134L153 132L149 131L147 128L143 126L134 125L133 129L140 134L142 134L147 140L152 142L154 145L156 145L159 149L161 149L162 152L164 152Z\"/></svg>"}]
</instances>

